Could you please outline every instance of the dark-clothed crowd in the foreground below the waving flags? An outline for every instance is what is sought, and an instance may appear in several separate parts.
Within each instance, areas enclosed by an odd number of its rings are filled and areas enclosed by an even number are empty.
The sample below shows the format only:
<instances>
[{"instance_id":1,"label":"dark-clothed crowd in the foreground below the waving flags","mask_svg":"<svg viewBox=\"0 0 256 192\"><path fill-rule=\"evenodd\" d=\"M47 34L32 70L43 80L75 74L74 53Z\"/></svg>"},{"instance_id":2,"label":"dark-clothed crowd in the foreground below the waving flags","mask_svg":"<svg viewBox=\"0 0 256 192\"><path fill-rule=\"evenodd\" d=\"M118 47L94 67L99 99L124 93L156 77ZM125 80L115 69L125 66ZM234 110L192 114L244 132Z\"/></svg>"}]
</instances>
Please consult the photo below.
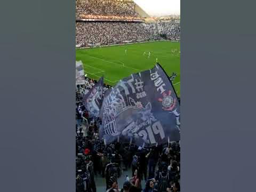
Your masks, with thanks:
<instances>
[{"instance_id":1,"label":"dark-clothed crowd in the foreground below the waving flags","mask_svg":"<svg viewBox=\"0 0 256 192\"><path fill-rule=\"evenodd\" d=\"M96 81L86 80L86 86ZM103 93L110 86L105 85ZM90 89L90 87L87 87ZM100 119L94 120L76 91L76 192L95 192L94 177L105 178L107 192L180 191L180 144L141 147L115 141L105 145L99 137ZM131 175L123 171L131 170ZM124 182L118 183L118 178ZM145 185L144 185L145 184ZM142 187L145 186L145 187ZM100 191L101 192L101 191Z\"/></svg>"}]
</instances>

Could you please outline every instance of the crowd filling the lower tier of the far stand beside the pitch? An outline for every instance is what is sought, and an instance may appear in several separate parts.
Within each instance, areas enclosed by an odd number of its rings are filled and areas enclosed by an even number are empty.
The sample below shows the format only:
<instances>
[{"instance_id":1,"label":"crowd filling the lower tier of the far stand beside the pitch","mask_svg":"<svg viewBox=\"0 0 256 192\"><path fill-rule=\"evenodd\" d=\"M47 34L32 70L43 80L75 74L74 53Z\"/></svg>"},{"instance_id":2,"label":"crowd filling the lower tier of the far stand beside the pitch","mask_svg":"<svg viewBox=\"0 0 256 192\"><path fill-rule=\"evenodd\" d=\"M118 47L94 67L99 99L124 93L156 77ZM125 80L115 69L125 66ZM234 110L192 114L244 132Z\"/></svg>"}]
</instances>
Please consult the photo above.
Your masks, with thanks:
<instances>
[{"instance_id":1,"label":"crowd filling the lower tier of the far stand beside the pitch","mask_svg":"<svg viewBox=\"0 0 256 192\"><path fill-rule=\"evenodd\" d=\"M160 40L166 35L170 40L179 41L180 25L178 23L144 23L144 22L76 22L76 44L108 45L125 41Z\"/></svg>"}]
</instances>

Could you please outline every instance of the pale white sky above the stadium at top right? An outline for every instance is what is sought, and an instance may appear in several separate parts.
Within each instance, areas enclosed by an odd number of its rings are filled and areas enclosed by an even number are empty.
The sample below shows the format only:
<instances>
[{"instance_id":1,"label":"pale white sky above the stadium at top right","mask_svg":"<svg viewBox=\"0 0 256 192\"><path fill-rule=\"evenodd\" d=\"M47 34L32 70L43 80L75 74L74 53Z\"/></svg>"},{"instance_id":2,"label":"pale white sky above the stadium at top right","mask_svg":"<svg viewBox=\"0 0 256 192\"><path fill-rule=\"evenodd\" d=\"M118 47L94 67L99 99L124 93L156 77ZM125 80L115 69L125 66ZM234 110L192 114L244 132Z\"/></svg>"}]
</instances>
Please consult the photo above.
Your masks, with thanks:
<instances>
[{"instance_id":1,"label":"pale white sky above the stadium at top right","mask_svg":"<svg viewBox=\"0 0 256 192\"><path fill-rule=\"evenodd\" d=\"M180 0L133 0L151 16L180 14Z\"/></svg>"}]
</instances>

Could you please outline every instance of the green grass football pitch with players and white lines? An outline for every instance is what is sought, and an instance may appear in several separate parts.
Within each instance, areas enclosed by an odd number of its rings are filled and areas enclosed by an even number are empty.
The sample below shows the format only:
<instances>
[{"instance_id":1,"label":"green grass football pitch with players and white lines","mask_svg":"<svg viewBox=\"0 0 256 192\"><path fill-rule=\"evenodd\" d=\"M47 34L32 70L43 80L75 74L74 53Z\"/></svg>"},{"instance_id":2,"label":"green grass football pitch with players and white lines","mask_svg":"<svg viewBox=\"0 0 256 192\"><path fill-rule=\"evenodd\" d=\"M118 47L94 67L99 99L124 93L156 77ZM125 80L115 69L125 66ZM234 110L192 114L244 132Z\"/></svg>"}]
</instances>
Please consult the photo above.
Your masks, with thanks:
<instances>
[{"instance_id":1,"label":"green grass football pitch with players and white lines","mask_svg":"<svg viewBox=\"0 0 256 192\"><path fill-rule=\"evenodd\" d=\"M151 69L158 61L169 76L177 74L173 86L180 95L180 43L161 41L77 49L76 61L79 60L83 62L87 77L98 80L103 75L104 82L109 85Z\"/></svg>"}]
</instances>

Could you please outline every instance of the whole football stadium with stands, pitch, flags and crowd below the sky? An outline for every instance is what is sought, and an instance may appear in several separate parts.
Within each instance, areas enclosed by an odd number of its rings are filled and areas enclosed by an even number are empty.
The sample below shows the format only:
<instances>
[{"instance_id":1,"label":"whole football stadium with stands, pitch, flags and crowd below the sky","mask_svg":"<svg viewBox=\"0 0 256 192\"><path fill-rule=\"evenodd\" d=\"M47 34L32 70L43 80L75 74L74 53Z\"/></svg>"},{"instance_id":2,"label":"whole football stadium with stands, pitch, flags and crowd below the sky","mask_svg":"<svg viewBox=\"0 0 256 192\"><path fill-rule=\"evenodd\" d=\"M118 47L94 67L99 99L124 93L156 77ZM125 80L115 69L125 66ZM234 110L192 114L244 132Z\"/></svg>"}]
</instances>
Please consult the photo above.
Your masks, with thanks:
<instances>
[{"instance_id":1,"label":"whole football stadium with stands, pitch, flags and crowd below the sky","mask_svg":"<svg viewBox=\"0 0 256 192\"><path fill-rule=\"evenodd\" d=\"M76 0L76 191L180 191L180 17Z\"/></svg>"}]
</instances>

